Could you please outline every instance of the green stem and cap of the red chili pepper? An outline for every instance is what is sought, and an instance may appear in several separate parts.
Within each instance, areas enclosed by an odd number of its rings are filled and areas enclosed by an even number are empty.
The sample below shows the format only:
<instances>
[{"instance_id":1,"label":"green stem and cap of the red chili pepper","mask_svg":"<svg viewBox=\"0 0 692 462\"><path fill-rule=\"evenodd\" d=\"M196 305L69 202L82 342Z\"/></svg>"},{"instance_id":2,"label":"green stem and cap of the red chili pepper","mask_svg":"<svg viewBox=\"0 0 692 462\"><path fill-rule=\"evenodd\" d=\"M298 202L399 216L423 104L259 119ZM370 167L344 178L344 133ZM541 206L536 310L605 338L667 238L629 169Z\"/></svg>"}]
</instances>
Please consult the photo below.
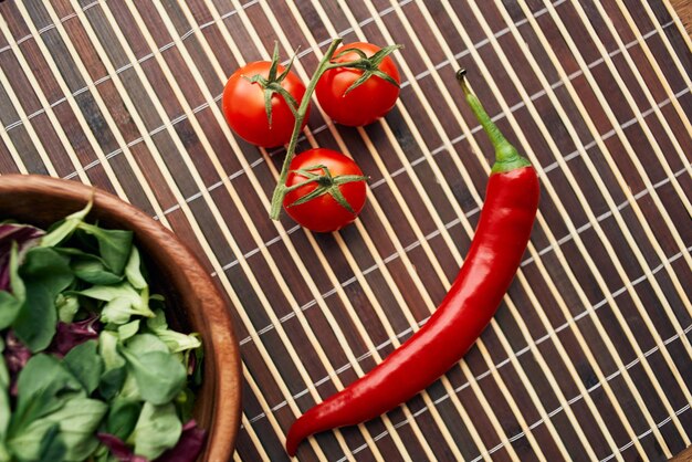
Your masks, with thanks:
<instances>
[{"instance_id":1,"label":"green stem and cap of the red chili pepper","mask_svg":"<svg viewBox=\"0 0 692 462\"><path fill-rule=\"evenodd\" d=\"M457 80L461 85L466 102L495 148L495 164L491 171L494 174L506 172L521 167L531 166L528 159L523 157L518 150L507 141L502 132L500 132L500 128L497 128L483 108L480 99L471 93L471 90L469 90L466 85L465 75L466 71L464 69L457 71Z\"/></svg>"}]
</instances>

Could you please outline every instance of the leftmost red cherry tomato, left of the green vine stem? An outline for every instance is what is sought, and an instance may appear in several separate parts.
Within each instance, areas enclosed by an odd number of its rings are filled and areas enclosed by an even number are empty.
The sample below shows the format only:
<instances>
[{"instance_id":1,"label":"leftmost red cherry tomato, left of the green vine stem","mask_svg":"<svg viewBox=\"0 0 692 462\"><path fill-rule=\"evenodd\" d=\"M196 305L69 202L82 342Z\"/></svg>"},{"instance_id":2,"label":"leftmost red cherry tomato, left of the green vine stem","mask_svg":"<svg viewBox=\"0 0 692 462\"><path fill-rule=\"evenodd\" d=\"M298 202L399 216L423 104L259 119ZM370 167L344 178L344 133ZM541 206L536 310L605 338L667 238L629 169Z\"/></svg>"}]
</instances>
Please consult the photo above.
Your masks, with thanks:
<instances>
[{"instance_id":1,"label":"leftmost red cherry tomato, left of the green vine stem","mask_svg":"<svg viewBox=\"0 0 692 462\"><path fill-rule=\"evenodd\" d=\"M269 61L255 61L235 71L226 83L223 88L222 108L226 119L231 128L244 140L262 147L285 145L291 140L295 117L291 107L279 93L272 95L272 124L270 126L264 107L264 88L260 83L250 82L255 75L269 77L272 63ZM284 72L282 65L277 66L276 74ZM293 72L289 72L281 82L291 96L301 104L305 94L305 85ZM303 122L307 122L308 112Z\"/></svg>"}]
</instances>

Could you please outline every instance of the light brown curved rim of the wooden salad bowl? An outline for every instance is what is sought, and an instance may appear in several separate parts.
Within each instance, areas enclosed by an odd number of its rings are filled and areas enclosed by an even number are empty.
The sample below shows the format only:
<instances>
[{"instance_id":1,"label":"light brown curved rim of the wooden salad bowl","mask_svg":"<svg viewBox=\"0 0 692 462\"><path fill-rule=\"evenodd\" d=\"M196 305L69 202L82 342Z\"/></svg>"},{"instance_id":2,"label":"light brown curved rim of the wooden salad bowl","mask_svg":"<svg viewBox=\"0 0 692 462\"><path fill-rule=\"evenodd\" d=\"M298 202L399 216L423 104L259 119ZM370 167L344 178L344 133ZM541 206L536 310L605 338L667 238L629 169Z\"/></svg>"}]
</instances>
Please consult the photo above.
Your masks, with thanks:
<instances>
[{"instance_id":1,"label":"light brown curved rim of the wooden salad bowl","mask_svg":"<svg viewBox=\"0 0 692 462\"><path fill-rule=\"evenodd\" d=\"M222 358L224 361L222 367L217 363L216 380L211 384L209 397L213 400L211 427L207 429L206 450L202 454L205 460L209 461L231 459L241 418L242 368L240 346L227 304L197 256L172 231L165 228L160 222L133 204L97 187L44 175L0 175L0 195L12 195L20 191L33 195L48 192L54 197L84 204L93 199L92 210L94 212L101 211L112 214L116 220L124 222L124 228L132 228L136 235L147 235L148 239L157 240L162 253L184 255L187 263L180 270L186 277L195 275L207 282L203 294L200 293L198 286L191 285L193 294L186 295L186 297L196 296L203 300L202 317L212 319L212 322L206 323L206 327L209 329L206 342L211 342L214 357L217 359ZM219 354L221 351L222 355Z\"/></svg>"}]
</instances>

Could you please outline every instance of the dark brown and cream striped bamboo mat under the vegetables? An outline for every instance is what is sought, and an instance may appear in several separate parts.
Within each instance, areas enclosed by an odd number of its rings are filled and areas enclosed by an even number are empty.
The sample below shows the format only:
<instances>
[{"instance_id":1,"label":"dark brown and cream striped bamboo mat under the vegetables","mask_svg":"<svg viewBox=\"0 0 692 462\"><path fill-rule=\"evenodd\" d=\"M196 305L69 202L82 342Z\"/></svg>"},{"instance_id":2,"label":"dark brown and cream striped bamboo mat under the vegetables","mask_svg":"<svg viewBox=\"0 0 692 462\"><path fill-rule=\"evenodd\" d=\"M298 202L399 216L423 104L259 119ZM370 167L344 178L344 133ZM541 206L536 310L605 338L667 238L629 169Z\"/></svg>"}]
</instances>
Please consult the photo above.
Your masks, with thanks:
<instances>
[{"instance_id":1,"label":"dark brown and cream striped bamboo mat under the vegetables","mask_svg":"<svg viewBox=\"0 0 692 462\"><path fill-rule=\"evenodd\" d=\"M284 434L424 323L457 274L492 156L462 104L538 167L539 216L463 361L301 460L665 460L692 438L691 42L667 1L39 0L0 3L0 172L115 192L172 229L228 296L241 343L235 460ZM370 177L333 235L269 220L282 151L235 138L228 75L274 42L307 81L331 39L402 43L396 108L301 149Z\"/></svg>"}]
</instances>

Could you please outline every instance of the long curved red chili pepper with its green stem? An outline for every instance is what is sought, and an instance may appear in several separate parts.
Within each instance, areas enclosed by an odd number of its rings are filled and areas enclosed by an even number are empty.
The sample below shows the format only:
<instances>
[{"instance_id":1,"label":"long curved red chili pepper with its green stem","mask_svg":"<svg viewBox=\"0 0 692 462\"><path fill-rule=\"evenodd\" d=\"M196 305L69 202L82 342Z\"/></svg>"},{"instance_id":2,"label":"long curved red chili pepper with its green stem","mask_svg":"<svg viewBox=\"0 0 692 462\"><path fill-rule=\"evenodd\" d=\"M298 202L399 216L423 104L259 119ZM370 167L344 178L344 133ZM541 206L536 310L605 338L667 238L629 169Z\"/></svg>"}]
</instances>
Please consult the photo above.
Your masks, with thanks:
<instances>
[{"instance_id":1,"label":"long curved red chili pepper with its green stem","mask_svg":"<svg viewBox=\"0 0 692 462\"><path fill-rule=\"evenodd\" d=\"M457 77L495 148L495 164L469 254L438 309L411 338L293 423L286 439L291 455L308 435L374 419L430 386L473 346L516 274L538 208L538 177L469 91L464 71Z\"/></svg>"}]
</instances>

